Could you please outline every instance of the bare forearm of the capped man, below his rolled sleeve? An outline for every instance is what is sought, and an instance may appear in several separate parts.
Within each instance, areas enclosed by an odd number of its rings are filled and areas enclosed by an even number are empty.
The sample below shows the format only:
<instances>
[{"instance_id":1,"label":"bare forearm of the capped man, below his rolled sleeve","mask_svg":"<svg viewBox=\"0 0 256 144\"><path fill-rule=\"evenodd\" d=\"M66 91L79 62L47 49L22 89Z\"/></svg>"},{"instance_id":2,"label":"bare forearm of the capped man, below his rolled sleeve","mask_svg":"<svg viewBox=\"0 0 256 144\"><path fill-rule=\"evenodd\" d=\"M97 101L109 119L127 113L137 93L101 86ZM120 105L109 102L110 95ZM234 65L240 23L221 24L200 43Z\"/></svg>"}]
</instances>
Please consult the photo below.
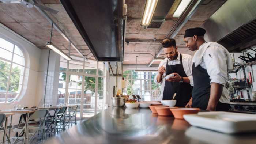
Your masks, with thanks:
<instances>
[{"instance_id":1,"label":"bare forearm of the capped man, below his rolled sleeve","mask_svg":"<svg viewBox=\"0 0 256 144\"><path fill-rule=\"evenodd\" d=\"M216 106L221 98L223 85L219 83L211 83L211 94L206 110L216 111Z\"/></svg>"}]
</instances>

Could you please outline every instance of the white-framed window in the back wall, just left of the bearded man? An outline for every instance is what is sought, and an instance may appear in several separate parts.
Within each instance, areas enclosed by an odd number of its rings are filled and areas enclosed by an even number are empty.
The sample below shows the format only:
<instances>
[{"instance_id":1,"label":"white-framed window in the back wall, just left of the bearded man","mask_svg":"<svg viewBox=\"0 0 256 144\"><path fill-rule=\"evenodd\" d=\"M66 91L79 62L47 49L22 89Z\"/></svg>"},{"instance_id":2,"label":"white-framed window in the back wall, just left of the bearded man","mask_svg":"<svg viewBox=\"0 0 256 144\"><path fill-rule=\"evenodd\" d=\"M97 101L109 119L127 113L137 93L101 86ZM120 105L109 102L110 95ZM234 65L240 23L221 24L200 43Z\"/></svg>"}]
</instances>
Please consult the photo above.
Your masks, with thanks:
<instances>
[{"instance_id":1,"label":"white-framed window in the back wall, just left of the bearded man","mask_svg":"<svg viewBox=\"0 0 256 144\"><path fill-rule=\"evenodd\" d=\"M154 83L156 72L135 72L128 70L123 73L126 80L123 94L142 96L143 101L156 101L161 97L162 86Z\"/></svg>"}]
</instances>

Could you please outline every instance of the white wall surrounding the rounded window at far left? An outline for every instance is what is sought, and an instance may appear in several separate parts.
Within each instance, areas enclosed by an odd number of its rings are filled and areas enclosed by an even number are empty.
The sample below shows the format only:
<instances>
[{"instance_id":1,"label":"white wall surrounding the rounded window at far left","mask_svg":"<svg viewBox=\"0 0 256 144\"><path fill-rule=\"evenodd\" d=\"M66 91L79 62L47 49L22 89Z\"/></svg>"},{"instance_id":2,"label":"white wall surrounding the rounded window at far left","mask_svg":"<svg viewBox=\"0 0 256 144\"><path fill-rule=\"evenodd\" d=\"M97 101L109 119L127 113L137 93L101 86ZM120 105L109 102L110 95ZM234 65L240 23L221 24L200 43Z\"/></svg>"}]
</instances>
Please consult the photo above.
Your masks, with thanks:
<instances>
[{"instance_id":1,"label":"white wall surrounding the rounded window at far left","mask_svg":"<svg viewBox=\"0 0 256 144\"><path fill-rule=\"evenodd\" d=\"M15 32L11 31L3 24L0 23L0 35L4 39L15 43L23 52L26 61L26 68L25 68L25 76L23 82L23 90L22 94L19 97L19 104L23 104L27 107L37 106L38 103L35 103L35 99L37 98L36 95L36 88L37 88L37 77L38 77L38 70L39 70L39 61L40 61L40 52L41 50L37 48L33 43L27 41L25 38L20 37ZM25 89L25 90L24 90ZM0 105L0 109L12 109L14 103L8 105ZM16 114L13 118L13 125L18 124L20 115Z\"/></svg>"}]
</instances>

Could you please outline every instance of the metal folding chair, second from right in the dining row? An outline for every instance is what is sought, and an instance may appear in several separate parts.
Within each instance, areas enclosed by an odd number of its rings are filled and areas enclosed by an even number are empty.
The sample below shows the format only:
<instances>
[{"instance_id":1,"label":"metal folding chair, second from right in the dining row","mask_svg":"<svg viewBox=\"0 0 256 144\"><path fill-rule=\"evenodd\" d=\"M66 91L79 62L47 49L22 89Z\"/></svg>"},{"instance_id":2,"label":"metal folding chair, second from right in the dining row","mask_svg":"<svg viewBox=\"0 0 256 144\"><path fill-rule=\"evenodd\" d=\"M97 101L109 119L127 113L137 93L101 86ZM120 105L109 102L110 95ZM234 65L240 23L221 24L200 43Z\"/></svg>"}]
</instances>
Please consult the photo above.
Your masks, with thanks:
<instances>
[{"instance_id":1,"label":"metal folding chair, second from right in the dining row","mask_svg":"<svg viewBox=\"0 0 256 144\"><path fill-rule=\"evenodd\" d=\"M67 110L67 107L62 107L59 112L57 113L57 124L56 124L56 129L57 129L57 133L59 133L59 130L58 129L64 129L65 130L65 112ZM48 119L48 120L45 120L46 123L50 123L50 125L48 126L48 128L46 129L46 132L47 130L50 128L50 126L52 124L55 123L55 118L52 118L52 119ZM62 123L63 124L63 128L58 128L58 123ZM51 132L53 131L54 128L52 128Z\"/></svg>"}]
</instances>

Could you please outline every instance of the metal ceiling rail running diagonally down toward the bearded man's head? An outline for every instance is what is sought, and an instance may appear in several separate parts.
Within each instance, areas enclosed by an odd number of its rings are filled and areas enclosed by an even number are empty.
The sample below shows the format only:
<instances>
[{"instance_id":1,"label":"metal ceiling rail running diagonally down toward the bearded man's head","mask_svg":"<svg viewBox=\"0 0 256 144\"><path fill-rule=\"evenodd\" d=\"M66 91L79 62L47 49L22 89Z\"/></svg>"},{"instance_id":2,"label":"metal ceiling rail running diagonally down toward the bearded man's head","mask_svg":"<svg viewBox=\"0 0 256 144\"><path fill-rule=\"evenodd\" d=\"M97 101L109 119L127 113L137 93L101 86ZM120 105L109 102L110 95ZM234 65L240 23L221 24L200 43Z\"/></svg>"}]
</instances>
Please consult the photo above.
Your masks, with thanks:
<instances>
[{"instance_id":1,"label":"metal ceiling rail running diagonally down toward the bearded man's head","mask_svg":"<svg viewBox=\"0 0 256 144\"><path fill-rule=\"evenodd\" d=\"M185 19L182 21L182 23L176 28L176 30L173 32L173 34L170 36L170 38L174 38L178 32L182 29L182 27L188 22L188 20L191 18L191 16L196 12L196 10L200 7L200 5L204 2L204 0L198 0L194 7L191 9L191 11L188 13L188 15L185 17ZM159 57L160 54L163 52L163 47L159 50L156 57ZM148 64L148 67L153 64L153 60Z\"/></svg>"}]
</instances>

